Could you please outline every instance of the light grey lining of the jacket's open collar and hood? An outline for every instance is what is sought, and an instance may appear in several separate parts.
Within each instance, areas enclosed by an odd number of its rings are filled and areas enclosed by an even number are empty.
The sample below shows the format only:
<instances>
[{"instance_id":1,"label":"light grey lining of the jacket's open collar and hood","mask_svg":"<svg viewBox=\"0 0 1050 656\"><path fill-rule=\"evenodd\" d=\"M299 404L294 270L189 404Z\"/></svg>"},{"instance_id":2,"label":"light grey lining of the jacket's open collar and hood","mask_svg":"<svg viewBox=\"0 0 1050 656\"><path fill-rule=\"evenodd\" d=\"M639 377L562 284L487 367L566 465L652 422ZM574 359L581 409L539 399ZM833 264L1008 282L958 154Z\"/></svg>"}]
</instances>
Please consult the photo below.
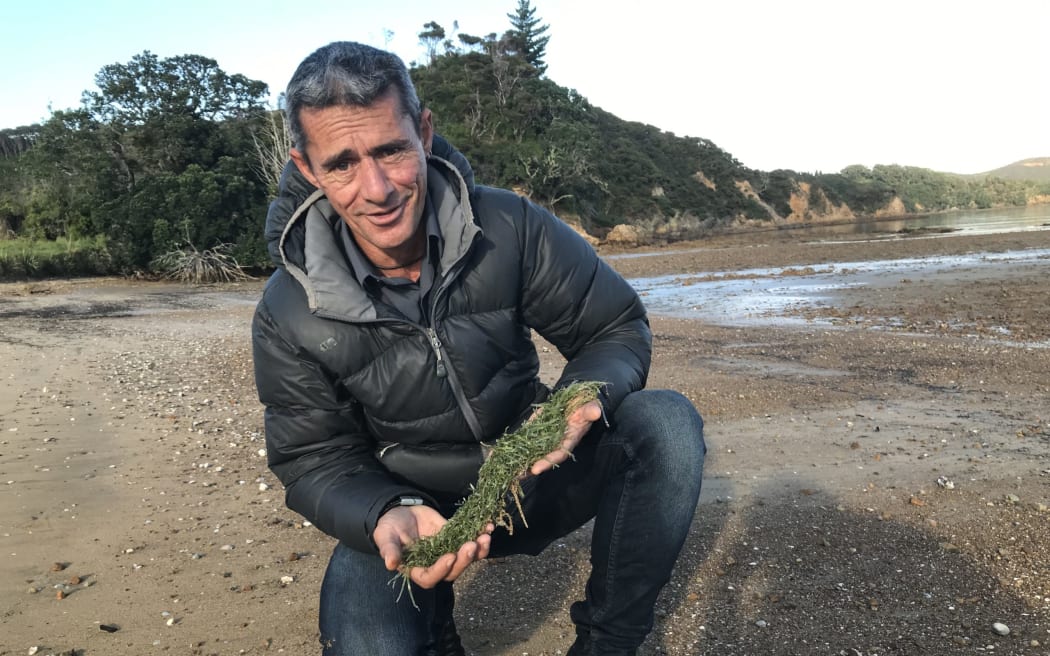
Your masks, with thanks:
<instances>
[{"instance_id":1,"label":"light grey lining of the jacket's open collar and hood","mask_svg":"<svg viewBox=\"0 0 1050 656\"><path fill-rule=\"evenodd\" d=\"M427 203L434 204L445 241L439 268L439 277L444 278L466 255L481 228L474 220L470 190L459 170L434 155L427 157ZM336 220L341 219L323 192L318 189L307 197L280 235L278 248L285 268L302 285L314 314L346 321L374 321L375 304L357 282L335 241L332 223ZM304 229L302 252L292 254L286 250L291 244L288 236L299 224Z\"/></svg>"}]
</instances>

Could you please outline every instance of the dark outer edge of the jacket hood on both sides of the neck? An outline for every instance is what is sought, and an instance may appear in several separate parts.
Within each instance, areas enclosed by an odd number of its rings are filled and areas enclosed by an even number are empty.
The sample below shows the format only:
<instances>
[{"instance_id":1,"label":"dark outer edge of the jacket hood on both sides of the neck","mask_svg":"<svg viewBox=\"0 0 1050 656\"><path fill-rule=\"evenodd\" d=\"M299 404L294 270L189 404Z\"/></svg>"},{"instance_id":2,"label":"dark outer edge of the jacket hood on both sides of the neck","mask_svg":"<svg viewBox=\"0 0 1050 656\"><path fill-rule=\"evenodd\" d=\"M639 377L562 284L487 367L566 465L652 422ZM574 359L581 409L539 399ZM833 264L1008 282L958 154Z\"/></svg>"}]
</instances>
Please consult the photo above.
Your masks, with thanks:
<instances>
[{"instance_id":1,"label":"dark outer edge of the jacket hood on both sides of the neck","mask_svg":"<svg viewBox=\"0 0 1050 656\"><path fill-rule=\"evenodd\" d=\"M474 194L474 169L462 152L457 150L440 134L434 135L432 144L432 158L443 160L452 165L462 177L468 194ZM432 167L433 168L433 167ZM317 188L310 184L302 173L299 172L295 163L289 160L285 169L280 173L280 183L277 188L277 197L270 203L270 209L266 216L266 242L270 259L278 267L285 266L285 256L280 251L282 235L289 223L292 221L296 211L301 209L308 199L316 198L311 196L317 193ZM322 196L317 196L322 197Z\"/></svg>"}]
</instances>

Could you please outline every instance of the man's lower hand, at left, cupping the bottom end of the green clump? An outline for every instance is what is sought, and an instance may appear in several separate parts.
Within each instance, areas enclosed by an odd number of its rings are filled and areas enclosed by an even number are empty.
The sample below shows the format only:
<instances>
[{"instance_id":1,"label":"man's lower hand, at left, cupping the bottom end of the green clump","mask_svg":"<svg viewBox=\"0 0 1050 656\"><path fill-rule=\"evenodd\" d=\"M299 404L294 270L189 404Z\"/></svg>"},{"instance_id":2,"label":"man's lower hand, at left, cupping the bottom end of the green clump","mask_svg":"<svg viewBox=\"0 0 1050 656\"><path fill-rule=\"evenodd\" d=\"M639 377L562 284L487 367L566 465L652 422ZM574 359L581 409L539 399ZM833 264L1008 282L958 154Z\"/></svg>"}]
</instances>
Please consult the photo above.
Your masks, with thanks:
<instances>
[{"instance_id":1,"label":"man's lower hand, at left, cupping the bottom end of the green clump","mask_svg":"<svg viewBox=\"0 0 1050 656\"><path fill-rule=\"evenodd\" d=\"M428 506L398 506L379 517L372 539L379 548L379 556L390 571L401 566L401 551L420 537L434 535L445 525L440 512ZM477 539L460 547L456 553L446 553L430 567L414 567L408 572L413 583L420 588L433 588L442 580L453 581L475 560L488 555L495 527L490 524Z\"/></svg>"}]
</instances>

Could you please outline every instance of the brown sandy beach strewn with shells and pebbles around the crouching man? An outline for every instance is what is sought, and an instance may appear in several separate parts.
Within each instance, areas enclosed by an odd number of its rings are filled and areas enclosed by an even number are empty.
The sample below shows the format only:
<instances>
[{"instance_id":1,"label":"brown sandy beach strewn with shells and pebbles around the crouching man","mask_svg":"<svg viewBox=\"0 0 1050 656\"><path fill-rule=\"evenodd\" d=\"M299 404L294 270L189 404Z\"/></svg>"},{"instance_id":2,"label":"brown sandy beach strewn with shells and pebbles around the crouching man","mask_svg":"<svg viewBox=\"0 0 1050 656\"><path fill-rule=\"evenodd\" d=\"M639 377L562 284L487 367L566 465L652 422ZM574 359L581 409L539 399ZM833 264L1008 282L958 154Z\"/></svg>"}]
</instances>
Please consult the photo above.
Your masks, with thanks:
<instances>
[{"instance_id":1,"label":"brown sandy beach strewn with shells and pebbles around the crouching man","mask_svg":"<svg viewBox=\"0 0 1050 656\"><path fill-rule=\"evenodd\" d=\"M609 261L686 285L1048 248L1050 230L766 234ZM319 653L333 542L266 468L261 285L0 285L0 655ZM733 319L652 317L649 384L696 404L710 451L643 653L1050 654L1050 257ZM468 652L563 654L588 538L474 567Z\"/></svg>"}]
</instances>

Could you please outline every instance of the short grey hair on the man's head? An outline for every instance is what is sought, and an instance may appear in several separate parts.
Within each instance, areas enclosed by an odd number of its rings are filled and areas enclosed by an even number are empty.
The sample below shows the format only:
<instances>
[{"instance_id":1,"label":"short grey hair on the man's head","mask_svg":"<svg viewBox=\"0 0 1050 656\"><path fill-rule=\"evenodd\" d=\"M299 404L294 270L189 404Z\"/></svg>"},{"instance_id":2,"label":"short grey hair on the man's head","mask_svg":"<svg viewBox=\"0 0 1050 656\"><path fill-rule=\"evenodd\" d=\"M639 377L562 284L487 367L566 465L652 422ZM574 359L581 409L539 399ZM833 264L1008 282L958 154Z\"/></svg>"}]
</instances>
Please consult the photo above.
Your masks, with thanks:
<instances>
[{"instance_id":1,"label":"short grey hair on the man's head","mask_svg":"<svg viewBox=\"0 0 1050 656\"><path fill-rule=\"evenodd\" d=\"M303 108L368 107L391 88L398 91L401 111L417 133L422 108L408 69L397 55L353 41L335 41L317 48L295 69L285 91L285 115L292 145L306 155Z\"/></svg>"}]
</instances>

